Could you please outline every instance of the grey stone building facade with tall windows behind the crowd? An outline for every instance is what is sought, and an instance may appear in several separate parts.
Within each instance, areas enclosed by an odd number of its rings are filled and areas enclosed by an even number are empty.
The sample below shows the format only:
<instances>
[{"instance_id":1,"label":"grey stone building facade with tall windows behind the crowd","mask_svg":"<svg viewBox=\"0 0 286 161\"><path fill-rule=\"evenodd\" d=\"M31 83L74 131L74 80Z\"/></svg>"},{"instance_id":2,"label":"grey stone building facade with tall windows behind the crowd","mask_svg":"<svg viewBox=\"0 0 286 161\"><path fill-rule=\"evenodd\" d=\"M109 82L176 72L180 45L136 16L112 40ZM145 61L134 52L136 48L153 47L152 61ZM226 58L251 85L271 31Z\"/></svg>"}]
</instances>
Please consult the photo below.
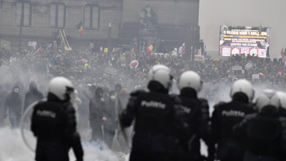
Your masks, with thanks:
<instances>
[{"instance_id":1,"label":"grey stone building facade with tall windows behind the crowd","mask_svg":"<svg viewBox=\"0 0 286 161\"><path fill-rule=\"evenodd\" d=\"M112 47L130 44L139 32L139 10L147 2L157 14L157 33L165 46L179 47L185 42L187 26L192 28L193 40L199 40L199 0L1 0L0 38L11 41L12 48L20 47L20 37L22 48L29 48L28 41L45 48L61 28L74 36L78 45L107 47L111 22ZM77 30L79 22L82 37Z\"/></svg>"}]
</instances>

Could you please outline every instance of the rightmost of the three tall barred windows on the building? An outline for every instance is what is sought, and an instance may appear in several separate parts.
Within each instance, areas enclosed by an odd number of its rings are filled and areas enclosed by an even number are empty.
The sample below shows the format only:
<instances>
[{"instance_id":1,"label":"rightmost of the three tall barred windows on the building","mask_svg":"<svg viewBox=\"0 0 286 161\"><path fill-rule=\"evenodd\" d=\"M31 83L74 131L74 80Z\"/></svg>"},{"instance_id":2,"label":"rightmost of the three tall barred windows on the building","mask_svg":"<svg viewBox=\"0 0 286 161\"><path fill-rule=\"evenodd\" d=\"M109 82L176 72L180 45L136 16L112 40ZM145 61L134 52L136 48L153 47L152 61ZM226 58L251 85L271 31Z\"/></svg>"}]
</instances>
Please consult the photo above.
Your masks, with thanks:
<instances>
[{"instance_id":1,"label":"rightmost of the three tall barred windows on the building","mask_svg":"<svg viewBox=\"0 0 286 161\"><path fill-rule=\"evenodd\" d=\"M84 7L83 27L85 29L98 29L99 13L99 6L86 5Z\"/></svg>"}]
</instances>

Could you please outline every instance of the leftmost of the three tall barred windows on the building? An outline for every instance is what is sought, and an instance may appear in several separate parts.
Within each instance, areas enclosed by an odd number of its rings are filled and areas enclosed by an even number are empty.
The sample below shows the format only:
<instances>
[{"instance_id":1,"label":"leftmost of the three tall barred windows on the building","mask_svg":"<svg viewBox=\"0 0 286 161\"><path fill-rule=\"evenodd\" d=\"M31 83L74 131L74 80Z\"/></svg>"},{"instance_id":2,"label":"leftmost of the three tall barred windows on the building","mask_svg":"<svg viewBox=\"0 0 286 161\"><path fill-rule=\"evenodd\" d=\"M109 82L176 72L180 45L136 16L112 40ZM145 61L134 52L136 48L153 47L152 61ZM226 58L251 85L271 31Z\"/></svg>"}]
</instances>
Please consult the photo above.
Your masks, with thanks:
<instances>
[{"instance_id":1,"label":"leftmost of the three tall barred windows on the building","mask_svg":"<svg viewBox=\"0 0 286 161\"><path fill-rule=\"evenodd\" d=\"M31 25L31 5L29 2L16 3L16 25ZM22 21L21 21L22 20Z\"/></svg>"}]
</instances>

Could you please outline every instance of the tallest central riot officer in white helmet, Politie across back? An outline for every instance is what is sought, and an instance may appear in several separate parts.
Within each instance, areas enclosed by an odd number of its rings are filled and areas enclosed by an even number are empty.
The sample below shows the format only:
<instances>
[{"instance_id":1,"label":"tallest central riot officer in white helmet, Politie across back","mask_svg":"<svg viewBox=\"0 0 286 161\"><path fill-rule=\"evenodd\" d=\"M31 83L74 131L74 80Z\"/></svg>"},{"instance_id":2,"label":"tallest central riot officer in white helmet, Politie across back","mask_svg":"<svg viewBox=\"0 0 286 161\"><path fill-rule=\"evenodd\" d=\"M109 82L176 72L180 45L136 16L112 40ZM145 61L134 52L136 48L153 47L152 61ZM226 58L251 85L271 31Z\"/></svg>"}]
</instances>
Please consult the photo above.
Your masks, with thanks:
<instances>
[{"instance_id":1,"label":"tallest central riot officer in white helmet, Politie across back","mask_svg":"<svg viewBox=\"0 0 286 161\"><path fill-rule=\"evenodd\" d=\"M174 160L175 132L179 129L176 125L180 125L177 124L176 104L180 99L168 95L173 78L167 66L154 65L148 78L150 91L131 93L127 108L120 116L122 128L135 120L130 161Z\"/></svg>"}]
</instances>

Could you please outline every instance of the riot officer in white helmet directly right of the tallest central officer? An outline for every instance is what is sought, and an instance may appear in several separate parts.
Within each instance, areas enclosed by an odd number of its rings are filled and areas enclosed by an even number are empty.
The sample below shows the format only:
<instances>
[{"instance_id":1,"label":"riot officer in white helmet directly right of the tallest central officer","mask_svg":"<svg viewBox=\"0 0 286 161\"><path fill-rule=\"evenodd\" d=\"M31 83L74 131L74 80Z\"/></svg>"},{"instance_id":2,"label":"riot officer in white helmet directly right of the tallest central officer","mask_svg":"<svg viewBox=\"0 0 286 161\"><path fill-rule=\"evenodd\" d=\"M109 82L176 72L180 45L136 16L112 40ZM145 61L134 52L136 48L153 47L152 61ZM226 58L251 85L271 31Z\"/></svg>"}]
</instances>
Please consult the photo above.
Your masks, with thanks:
<instances>
[{"instance_id":1,"label":"riot officer in white helmet directly right of the tallest central officer","mask_svg":"<svg viewBox=\"0 0 286 161\"><path fill-rule=\"evenodd\" d=\"M182 118L189 125L190 131L188 134L189 152L182 152L181 155L178 155L181 160L204 160L200 152L200 139L209 142L209 105L206 100L197 98L201 87L200 75L194 71L185 71L178 80L179 97L182 101Z\"/></svg>"}]
</instances>

